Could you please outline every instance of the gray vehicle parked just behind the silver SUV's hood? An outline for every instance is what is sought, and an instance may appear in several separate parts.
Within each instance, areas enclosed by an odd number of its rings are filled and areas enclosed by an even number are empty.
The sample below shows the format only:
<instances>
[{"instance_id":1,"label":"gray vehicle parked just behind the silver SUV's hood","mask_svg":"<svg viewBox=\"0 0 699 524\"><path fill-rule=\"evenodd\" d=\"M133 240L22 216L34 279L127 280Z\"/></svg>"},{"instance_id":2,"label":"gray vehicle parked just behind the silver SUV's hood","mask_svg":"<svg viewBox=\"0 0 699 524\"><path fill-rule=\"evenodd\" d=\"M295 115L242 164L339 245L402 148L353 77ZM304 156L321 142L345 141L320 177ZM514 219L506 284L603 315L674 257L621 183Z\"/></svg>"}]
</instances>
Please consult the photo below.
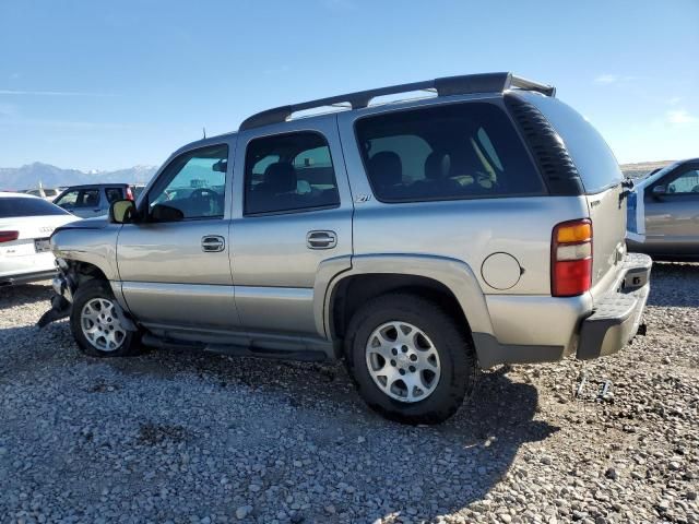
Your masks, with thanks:
<instances>
[{"instance_id":1,"label":"gray vehicle parked just behind the silver SUV's hood","mask_svg":"<svg viewBox=\"0 0 699 524\"><path fill-rule=\"evenodd\" d=\"M111 202L117 200L135 200L143 186L129 183L91 183L71 186L55 201L66 211L82 218L106 215Z\"/></svg>"}]
</instances>

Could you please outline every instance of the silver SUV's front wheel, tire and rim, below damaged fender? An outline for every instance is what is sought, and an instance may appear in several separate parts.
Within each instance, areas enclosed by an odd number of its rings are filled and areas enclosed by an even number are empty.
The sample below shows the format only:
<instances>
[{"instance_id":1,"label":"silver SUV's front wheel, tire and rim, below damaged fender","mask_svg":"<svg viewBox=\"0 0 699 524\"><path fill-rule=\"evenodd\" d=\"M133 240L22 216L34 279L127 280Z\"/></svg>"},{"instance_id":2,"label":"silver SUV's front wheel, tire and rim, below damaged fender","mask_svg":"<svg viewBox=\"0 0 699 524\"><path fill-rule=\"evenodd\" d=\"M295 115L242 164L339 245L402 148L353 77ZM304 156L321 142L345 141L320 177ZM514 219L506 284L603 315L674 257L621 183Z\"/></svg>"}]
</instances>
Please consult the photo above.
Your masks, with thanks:
<instances>
[{"instance_id":1,"label":"silver SUV's front wheel, tire and rim, below damaged fender","mask_svg":"<svg viewBox=\"0 0 699 524\"><path fill-rule=\"evenodd\" d=\"M88 281L78 288L70 317L73 337L92 357L125 357L139 353L140 333L127 330L121 309L103 281Z\"/></svg>"}]
</instances>

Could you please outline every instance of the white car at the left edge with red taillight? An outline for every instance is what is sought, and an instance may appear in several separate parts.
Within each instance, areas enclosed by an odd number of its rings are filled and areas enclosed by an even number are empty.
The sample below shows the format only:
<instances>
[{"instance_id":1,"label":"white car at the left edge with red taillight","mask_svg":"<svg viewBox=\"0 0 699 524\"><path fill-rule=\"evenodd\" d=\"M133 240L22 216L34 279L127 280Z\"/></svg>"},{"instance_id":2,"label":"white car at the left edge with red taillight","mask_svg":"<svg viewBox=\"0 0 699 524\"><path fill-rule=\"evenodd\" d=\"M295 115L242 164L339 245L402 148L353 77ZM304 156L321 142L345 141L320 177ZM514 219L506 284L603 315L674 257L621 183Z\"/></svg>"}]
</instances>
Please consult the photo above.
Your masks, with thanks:
<instances>
[{"instance_id":1,"label":"white car at the left edge with red taillight","mask_svg":"<svg viewBox=\"0 0 699 524\"><path fill-rule=\"evenodd\" d=\"M48 239L75 219L38 196L0 192L0 286L50 278L56 263Z\"/></svg>"}]
</instances>

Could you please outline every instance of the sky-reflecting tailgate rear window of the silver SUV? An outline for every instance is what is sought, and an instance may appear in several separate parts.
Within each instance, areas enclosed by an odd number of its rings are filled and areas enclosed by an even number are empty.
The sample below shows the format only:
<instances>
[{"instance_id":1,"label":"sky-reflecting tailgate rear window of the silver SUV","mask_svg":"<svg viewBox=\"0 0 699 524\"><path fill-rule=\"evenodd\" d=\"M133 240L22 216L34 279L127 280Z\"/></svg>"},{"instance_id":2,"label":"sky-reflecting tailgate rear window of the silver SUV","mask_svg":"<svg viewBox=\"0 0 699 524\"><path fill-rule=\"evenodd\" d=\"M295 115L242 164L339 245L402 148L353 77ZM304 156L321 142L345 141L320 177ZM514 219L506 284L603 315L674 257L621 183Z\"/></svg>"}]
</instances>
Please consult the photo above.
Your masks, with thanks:
<instances>
[{"instance_id":1,"label":"sky-reflecting tailgate rear window of the silver SUV","mask_svg":"<svg viewBox=\"0 0 699 524\"><path fill-rule=\"evenodd\" d=\"M548 96L529 95L566 143L585 192L599 193L624 180L619 164L600 132L573 108Z\"/></svg>"}]
</instances>

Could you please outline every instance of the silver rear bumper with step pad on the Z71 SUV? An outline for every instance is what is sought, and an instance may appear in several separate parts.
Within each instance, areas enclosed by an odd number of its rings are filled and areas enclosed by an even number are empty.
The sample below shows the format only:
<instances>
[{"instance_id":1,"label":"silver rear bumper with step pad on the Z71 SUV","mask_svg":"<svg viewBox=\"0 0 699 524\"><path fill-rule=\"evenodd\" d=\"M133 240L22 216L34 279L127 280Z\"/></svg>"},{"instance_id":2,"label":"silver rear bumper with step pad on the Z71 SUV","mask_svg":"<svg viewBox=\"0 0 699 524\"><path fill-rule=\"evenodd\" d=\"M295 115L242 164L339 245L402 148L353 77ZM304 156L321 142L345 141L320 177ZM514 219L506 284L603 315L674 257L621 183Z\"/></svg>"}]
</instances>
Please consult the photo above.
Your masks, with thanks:
<instances>
[{"instance_id":1,"label":"silver rear bumper with step pad on the Z71 SUV","mask_svg":"<svg viewBox=\"0 0 699 524\"><path fill-rule=\"evenodd\" d=\"M629 253L623 277L614 291L595 302L582 321L576 356L581 360L612 355L628 344L641 323L650 293L651 258Z\"/></svg>"}]
</instances>

